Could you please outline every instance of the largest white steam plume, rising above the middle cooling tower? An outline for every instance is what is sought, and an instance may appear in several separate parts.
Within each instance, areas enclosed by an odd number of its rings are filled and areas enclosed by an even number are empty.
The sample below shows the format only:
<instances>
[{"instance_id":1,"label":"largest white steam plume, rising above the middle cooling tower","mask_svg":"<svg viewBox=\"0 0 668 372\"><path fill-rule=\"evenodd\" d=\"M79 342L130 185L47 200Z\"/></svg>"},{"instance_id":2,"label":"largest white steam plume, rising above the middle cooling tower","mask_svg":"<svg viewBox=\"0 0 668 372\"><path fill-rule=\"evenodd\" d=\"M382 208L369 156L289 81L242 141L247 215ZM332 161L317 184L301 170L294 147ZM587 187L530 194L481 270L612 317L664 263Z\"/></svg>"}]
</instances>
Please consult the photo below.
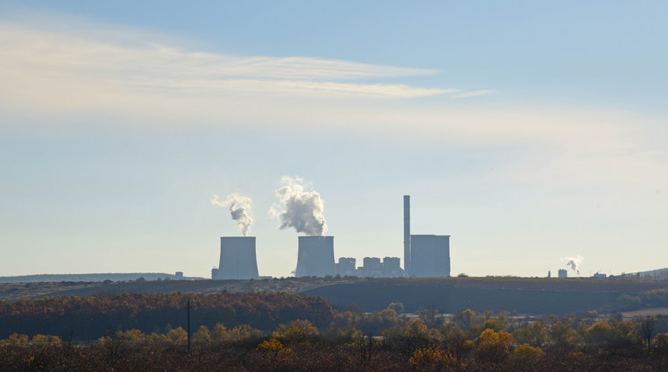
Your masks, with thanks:
<instances>
[{"instance_id":1,"label":"largest white steam plume, rising above the middle cooling tower","mask_svg":"<svg viewBox=\"0 0 668 372\"><path fill-rule=\"evenodd\" d=\"M322 216L325 204L318 192L305 191L307 184L302 178L283 176L281 183L285 184L276 190L276 197L282 205L269 209L269 215L278 217L281 229L294 227L297 233L306 235L324 235L327 231L327 222Z\"/></svg>"}]
</instances>

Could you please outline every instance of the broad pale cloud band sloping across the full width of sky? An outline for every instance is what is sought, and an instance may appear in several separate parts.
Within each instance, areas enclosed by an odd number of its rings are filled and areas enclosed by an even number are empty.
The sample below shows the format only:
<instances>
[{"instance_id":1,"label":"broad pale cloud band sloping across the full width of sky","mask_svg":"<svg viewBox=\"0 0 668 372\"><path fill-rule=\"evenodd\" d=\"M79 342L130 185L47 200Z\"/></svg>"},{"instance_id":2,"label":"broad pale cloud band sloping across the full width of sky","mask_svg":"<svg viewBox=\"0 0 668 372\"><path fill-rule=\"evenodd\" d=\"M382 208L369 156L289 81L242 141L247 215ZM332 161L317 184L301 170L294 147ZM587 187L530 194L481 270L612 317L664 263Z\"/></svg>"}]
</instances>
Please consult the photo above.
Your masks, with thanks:
<instances>
[{"instance_id":1,"label":"broad pale cloud band sloping across the full width of sky","mask_svg":"<svg viewBox=\"0 0 668 372\"><path fill-rule=\"evenodd\" d=\"M430 70L322 58L235 57L170 42L143 45L129 31L111 33L0 24L5 118L62 123L113 116L128 127L337 130L432 146L513 146L531 155L505 173L508 182L541 185L614 181L620 170L640 179L658 174L665 159L656 135L661 118L570 107L398 102L435 94L447 102L492 91L383 82L435 73Z\"/></svg>"}]
</instances>

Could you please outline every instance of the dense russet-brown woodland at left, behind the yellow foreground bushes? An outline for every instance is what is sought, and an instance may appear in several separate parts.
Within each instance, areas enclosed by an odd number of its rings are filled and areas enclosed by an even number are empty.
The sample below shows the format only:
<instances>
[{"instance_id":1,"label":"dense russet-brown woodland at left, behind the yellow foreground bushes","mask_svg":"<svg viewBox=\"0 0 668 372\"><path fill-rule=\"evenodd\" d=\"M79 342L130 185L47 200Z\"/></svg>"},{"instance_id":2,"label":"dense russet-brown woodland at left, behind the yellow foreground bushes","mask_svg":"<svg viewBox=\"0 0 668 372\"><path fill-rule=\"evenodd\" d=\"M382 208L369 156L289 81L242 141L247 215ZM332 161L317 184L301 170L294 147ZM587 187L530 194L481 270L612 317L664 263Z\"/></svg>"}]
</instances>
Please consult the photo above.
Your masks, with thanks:
<instances>
[{"instance_id":1,"label":"dense russet-brown woodland at left, behind the yellow foreground bushes","mask_svg":"<svg viewBox=\"0 0 668 372\"><path fill-rule=\"evenodd\" d=\"M164 332L185 327L186 304L193 327L252 324L270 332L280 323L306 319L326 327L336 311L320 297L286 293L120 294L0 301L0 338L13 332L52 334L64 340L96 340L110 332Z\"/></svg>"}]
</instances>

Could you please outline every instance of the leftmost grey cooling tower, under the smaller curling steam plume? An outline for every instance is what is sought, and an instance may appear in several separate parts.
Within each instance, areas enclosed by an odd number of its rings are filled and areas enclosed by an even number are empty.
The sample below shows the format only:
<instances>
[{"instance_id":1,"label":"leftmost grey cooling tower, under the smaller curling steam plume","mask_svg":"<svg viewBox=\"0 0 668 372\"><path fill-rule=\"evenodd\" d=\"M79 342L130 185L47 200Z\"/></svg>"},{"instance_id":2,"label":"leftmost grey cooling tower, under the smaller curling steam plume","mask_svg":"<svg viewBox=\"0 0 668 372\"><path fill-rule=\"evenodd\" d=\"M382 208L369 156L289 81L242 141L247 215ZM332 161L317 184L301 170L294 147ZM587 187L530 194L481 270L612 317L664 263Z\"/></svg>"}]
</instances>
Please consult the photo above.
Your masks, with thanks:
<instances>
[{"instance_id":1,"label":"leftmost grey cooling tower, under the smaller curling steam plume","mask_svg":"<svg viewBox=\"0 0 668 372\"><path fill-rule=\"evenodd\" d=\"M220 238L220 265L214 279L258 279L254 236Z\"/></svg>"}]
</instances>

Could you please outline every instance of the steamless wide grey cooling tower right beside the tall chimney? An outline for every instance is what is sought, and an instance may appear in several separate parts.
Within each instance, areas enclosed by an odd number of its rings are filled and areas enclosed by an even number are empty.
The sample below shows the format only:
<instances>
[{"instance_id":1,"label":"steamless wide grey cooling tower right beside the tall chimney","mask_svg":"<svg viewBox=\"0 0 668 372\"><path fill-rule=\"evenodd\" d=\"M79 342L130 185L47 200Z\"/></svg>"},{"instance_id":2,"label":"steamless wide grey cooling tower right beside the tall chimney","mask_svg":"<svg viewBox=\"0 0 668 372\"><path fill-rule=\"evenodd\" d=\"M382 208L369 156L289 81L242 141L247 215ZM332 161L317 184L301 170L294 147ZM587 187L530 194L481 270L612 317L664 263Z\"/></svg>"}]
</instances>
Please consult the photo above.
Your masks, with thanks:
<instances>
[{"instance_id":1,"label":"steamless wide grey cooling tower right beside the tall chimney","mask_svg":"<svg viewBox=\"0 0 668 372\"><path fill-rule=\"evenodd\" d=\"M450 235L410 235L410 276L450 276Z\"/></svg>"}]
</instances>

